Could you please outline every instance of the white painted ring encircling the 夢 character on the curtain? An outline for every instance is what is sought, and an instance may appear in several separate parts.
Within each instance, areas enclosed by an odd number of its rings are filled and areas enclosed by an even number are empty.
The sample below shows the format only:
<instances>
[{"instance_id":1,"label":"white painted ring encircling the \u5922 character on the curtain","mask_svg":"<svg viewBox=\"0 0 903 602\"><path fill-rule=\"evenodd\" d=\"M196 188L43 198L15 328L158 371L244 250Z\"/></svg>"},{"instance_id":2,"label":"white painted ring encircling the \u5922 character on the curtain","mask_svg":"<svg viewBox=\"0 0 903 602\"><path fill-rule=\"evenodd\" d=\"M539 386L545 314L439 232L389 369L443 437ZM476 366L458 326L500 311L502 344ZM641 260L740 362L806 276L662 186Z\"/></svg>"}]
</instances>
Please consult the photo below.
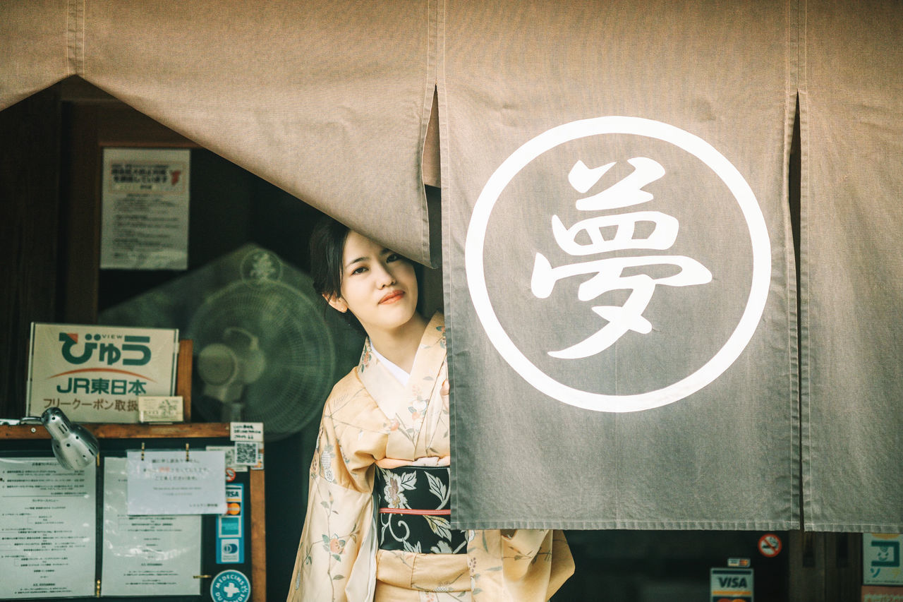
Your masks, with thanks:
<instances>
[{"instance_id":1,"label":"white painted ring encircling the \u5922 character on the curtain","mask_svg":"<svg viewBox=\"0 0 903 602\"><path fill-rule=\"evenodd\" d=\"M612 134L644 136L660 140L694 155L703 165L707 166L727 187L737 202L749 230L752 256L749 296L745 307L736 327L711 359L684 378L664 387L625 395L581 390L556 380L531 362L512 341L511 336L496 315L489 297L483 264L490 215L499 197L515 176L537 157L544 155L556 146L590 136ZM576 186L574 187L576 188ZM662 258L674 259L664 256ZM623 260L620 259L620 261ZM525 381L545 395L578 408L607 412L632 412L658 408L692 395L721 376L740 357L740 353L743 352L755 333L759 319L765 310L771 280L771 245L765 218L749 183L746 182L740 171L712 145L699 136L694 136L679 127L660 121L611 116L581 119L549 129L520 146L498 166L479 194L470 216L464 245L464 266L470 299L489 341ZM603 317L605 316L603 315ZM632 329L640 332L643 328L642 322L642 319L638 322L635 321Z\"/></svg>"}]
</instances>

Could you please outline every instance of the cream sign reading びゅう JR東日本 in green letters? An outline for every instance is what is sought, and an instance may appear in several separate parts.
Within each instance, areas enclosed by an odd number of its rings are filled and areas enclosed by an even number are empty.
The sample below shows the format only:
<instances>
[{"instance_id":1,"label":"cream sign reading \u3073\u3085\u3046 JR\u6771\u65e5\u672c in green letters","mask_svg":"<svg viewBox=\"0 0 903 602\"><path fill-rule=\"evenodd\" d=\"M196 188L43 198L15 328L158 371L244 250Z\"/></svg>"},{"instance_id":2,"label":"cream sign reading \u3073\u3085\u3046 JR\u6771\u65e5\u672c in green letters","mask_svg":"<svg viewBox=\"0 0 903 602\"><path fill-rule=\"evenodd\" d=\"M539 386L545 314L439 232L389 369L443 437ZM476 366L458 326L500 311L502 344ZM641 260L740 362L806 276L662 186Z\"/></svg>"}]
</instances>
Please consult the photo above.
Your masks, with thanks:
<instances>
[{"instance_id":1,"label":"cream sign reading \u3073\u3085\u3046 JR\u6771\u65e5\u672c in green letters","mask_svg":"<svg viewBox=\"0 0 903 602\"><path fill-rule=\"evenodd\" d=\"M138 397L172 395L179 331L32 324L28 412L77 422L137 422Z\"/></svg>"}]
</instances>

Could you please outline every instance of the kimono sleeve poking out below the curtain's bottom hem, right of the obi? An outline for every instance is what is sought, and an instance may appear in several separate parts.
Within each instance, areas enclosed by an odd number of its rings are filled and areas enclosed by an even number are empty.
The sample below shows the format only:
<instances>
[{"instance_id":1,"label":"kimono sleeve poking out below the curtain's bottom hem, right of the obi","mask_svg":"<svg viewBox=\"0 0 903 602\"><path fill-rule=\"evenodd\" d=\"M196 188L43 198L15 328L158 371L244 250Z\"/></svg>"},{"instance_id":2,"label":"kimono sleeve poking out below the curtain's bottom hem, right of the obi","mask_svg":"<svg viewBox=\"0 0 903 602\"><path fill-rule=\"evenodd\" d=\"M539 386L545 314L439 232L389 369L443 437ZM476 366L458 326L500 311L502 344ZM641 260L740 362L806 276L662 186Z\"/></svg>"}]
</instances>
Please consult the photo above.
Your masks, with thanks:
<instances>
[{"instance_id":1,"label":"kimono sleeve poking out below the curtain's bottom hem, right of the obi","mask_svg":"<svg viewBox=\"0 0 903 602\"><path fill-rule=\"evenodd\" d=\"M468 567L473 602L545 602L573 575L562 531L472 531Z\"/></svg>"}]
</instances>

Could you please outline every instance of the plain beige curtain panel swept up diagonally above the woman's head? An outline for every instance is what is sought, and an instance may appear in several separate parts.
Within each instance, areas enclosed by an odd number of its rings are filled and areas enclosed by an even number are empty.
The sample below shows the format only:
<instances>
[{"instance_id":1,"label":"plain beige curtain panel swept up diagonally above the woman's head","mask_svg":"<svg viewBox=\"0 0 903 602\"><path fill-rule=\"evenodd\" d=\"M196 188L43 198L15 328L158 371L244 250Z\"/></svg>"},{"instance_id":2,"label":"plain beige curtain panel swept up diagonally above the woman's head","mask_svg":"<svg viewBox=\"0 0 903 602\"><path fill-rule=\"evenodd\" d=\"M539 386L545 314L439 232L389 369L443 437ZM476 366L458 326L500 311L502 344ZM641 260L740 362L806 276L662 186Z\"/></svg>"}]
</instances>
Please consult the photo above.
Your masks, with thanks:
<instances>
[{"instance_id":1,"label":"plain beige curtain panel swept up diagonally above the woman's head","mask_svg":"<svg viewBox=\"0 0 903 602\"><path fill-rule=\"evenodd\" d=\"M77 74L431 265L435 23L431 0L6 2L0 107Z\"/></svg>"}]
</instances>

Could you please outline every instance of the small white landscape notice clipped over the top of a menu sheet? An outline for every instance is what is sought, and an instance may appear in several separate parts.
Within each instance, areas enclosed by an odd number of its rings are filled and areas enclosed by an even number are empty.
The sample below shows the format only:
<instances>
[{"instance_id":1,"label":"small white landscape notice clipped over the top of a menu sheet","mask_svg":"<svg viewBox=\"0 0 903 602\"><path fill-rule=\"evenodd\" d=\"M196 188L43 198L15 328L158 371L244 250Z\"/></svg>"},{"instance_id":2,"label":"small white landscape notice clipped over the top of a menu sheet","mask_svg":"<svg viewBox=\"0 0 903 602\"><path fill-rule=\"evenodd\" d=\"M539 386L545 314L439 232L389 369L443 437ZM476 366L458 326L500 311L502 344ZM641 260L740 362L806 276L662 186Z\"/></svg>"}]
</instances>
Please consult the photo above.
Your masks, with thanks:
<instances>
[{"instance_id":1,"label":"small white landscape notice clipped over the top of a menu sheet","mask_svg":"<svg viewBox=\"0 0 903 602\"><path fill-rule=\"evenodd\" d=\"M226 513L222 452L130 451L127 458L129 514Z\"/></svg>"}]
</instances>

